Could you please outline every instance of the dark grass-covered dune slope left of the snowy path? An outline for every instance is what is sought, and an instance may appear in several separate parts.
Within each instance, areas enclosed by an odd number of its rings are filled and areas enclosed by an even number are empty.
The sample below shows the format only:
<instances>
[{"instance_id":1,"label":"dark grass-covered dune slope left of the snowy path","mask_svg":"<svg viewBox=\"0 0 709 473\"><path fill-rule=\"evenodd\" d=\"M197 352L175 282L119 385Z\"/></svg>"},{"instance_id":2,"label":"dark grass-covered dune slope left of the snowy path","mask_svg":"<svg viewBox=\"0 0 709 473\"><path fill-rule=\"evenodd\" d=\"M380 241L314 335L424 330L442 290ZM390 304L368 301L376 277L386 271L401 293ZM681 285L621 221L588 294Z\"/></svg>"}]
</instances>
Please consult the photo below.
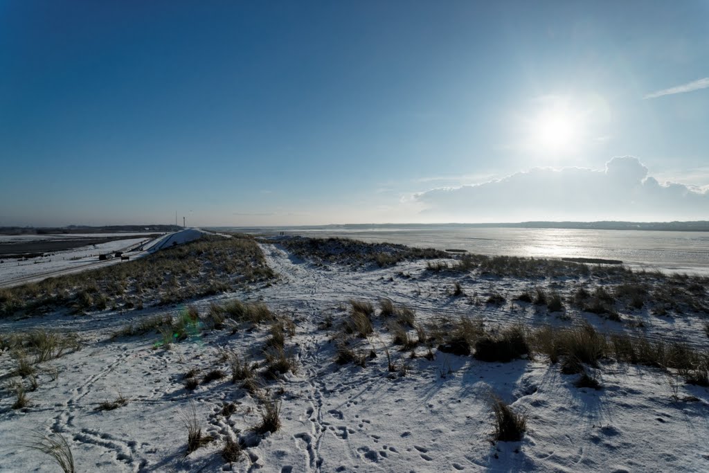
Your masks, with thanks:
<instances>
[{"instance_id":1,"label":"dark grass-covered dune slope left of the snowy path","mask_svg":"<svg viewBox=\"0 0 709 473\"><path fill-rule=\"evenodd\" d=\"M172 304L272 277L252 238L204 235L138 260L0 289L0 316Z\"/></svg>"}]
</instances>

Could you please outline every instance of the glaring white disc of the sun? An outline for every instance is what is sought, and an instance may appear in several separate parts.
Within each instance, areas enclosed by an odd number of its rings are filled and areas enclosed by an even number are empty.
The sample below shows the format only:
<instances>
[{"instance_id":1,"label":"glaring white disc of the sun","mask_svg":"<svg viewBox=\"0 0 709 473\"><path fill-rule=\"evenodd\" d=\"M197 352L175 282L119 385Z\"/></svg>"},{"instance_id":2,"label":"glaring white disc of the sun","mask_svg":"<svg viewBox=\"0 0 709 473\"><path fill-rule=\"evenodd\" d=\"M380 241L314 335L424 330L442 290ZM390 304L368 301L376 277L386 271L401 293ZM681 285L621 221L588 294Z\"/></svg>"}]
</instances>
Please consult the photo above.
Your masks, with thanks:
<instances>
[{"instance_id":1,"label":"glaring white disc of the sun","mask_svg":"<svg viewBox=\"0 0 709 473\"><path fill-rule=\"evenodd\" d=\"M567 152L579 144L579 116L566 108L543 111L534 121L533 128L534 140L543 151Z\"/></svg>"}]
</instances>

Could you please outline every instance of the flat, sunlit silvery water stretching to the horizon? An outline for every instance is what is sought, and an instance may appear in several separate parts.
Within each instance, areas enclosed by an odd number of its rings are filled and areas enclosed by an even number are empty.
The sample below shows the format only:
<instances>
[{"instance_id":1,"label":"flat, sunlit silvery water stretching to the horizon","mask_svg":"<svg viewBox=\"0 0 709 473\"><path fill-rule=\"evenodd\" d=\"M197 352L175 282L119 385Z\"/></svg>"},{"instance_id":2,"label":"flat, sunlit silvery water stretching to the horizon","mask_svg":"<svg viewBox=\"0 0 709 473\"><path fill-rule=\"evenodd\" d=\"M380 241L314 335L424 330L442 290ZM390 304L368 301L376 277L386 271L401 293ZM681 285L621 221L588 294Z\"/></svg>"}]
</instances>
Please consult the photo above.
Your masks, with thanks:
<instances>
[{"instance_id":1,"label":"flat, sunlit silvery water stretching to the horizon","mask_svg":"<svg viewBox=\"0 0 709 473\"><path fill-rule=\"evenodd\" d=\"M556 228L241 228L252 233L340 236L482 255L589 257L621 260L633 268L709 274L709 233L648 230L565 230Z\"/></svg>"}]
</instances>

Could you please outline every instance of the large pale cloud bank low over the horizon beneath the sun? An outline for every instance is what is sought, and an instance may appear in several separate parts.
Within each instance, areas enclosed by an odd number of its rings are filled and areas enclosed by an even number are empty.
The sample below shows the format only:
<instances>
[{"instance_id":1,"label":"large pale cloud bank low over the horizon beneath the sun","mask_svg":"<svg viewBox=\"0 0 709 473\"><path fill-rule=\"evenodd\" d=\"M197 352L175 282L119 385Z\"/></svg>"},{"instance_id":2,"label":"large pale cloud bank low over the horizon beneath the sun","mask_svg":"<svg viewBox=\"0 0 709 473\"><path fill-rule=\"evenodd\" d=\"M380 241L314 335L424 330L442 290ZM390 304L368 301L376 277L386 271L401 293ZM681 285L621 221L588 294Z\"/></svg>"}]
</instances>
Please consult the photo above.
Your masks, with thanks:
<instances>
[{"instance_id":1,"label":"large pale cloud bank low over the horizon beneath the sun","mask_svg":"<svg viewBox=\"0 0 709 473\"><path fill-rule=\"evenodd\" d=\"M709 192L660 184L635 157L605 169L535 168L503 179L414 194L426 216L447 221L709 220Z\"/></svg>"}]
</instances>

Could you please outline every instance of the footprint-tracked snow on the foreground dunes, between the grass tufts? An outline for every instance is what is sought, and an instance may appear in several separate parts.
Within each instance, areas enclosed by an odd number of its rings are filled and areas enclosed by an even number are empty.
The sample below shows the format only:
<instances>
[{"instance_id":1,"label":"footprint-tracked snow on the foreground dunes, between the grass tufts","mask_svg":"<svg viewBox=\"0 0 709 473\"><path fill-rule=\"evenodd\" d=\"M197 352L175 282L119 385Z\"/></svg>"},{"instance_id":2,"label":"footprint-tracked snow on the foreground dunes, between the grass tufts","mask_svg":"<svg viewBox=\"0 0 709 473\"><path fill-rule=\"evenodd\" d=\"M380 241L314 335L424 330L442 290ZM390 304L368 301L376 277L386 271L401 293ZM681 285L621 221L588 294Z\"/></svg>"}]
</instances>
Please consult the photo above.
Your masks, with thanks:
<instances>
[{"instance_id":1,"label":"footprint-tracked snow on the foreground dunes, between the grass tufts","mask_svg":"<svg viewBox=\"0 0 709 473\"><path fill-rule=\"evenodd\" d=\"M313 265L277 245L262 245L269 265L280 275L240 294L196 301L200 313L211 302L230 299L263 301L275 313L291 318L294 337L286 339L297 372L269 382L264 393L281 400L280 430L249 433L259 422L263 404L228 378L184 387L184 373L202 376L228 367L220 356L235 350L260 360L267 328L204 330L171 350L154 349L155 333L108 340L125 323L181 308L130 313L105 311L89 316L46 316L0 320L0 333L48 328L72 330L84 347L45 362L39 386L28 392L30 406L13 410L14 395L1 391L0 470L57 471L51 460L18 445L34 428L61 433L72 448L77 471L174 472L703 472L709 469L709 391L679 384L678 401L666 374L659 369L601 363L594 370L603 389L576 388L574 375L564 375L543 356L535 360L488 363L435 351L433 360L398 352L391 334L377 325L361 340L362 350L376 357L367 367L337 365L332 339L345 317L347 301L376 304L381 297L406 304L425 323L439 316L479 316L486 323L565 324L558 314L537 311L531 304L510 302L528 282L514 278L462 279L467 294L502 291L501 306L469 304L450 296L456 279L432 276L425 262L401 262L384 269L353 270ZM527 285L525 285L527 284ZM649 335L686 338L706 347L699 314L681 318L642 315ZM325 329L332 320L332 329ZM592 318L601 330L623 325ZM406 376L387 369L384 347L393 362L408 365ZM0 353L0 382L9 382L13 360ZM50 369L59 370L52 381ZM17 378L17 377L15 377ZM489 394L496 393L529 418L523 440L493 443ZM128 404L97 411L119 394ZM225 413L225 404L235 411ZM203 434L216 440L185 455L182 416L196 411ZM246 439L241 460L232 464L219 455L227 438Z\"/></svg>"}]
</instances>

